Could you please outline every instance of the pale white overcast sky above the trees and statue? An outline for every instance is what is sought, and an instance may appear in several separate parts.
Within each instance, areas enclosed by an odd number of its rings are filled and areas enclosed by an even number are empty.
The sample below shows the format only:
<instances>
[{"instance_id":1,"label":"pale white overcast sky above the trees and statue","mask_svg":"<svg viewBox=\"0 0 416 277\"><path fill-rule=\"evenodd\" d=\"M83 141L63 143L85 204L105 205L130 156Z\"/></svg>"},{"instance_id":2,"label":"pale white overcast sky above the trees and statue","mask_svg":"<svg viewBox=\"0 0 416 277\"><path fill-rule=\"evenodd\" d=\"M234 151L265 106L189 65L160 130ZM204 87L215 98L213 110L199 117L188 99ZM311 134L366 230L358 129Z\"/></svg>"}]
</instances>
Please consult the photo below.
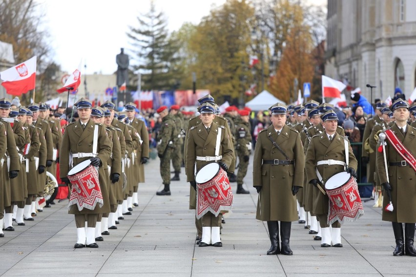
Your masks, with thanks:
<instances>
[{"instance_id":1,"label":"pale white overcast sky above the trees and statue","mask_svg":"<svg viewBox=\"0 0 416 277\"><path fill-rule=\"evenodd\" d=\"M309 0L326 4L326 0ZM150 0L39 0L43 22L50 33L53 59L72 73L83 59L83 74L112 74L120 48L129 49L128 26L138 27L137 16L146 14ZM169 31L184 22L197 24L213 7L226 0L154 0L166 15ZM127 51L126 51L127 52ZM131 60L131 57L130 57ZM131 62L130 62L131 63Z\"/></svg>"}]
</instances>

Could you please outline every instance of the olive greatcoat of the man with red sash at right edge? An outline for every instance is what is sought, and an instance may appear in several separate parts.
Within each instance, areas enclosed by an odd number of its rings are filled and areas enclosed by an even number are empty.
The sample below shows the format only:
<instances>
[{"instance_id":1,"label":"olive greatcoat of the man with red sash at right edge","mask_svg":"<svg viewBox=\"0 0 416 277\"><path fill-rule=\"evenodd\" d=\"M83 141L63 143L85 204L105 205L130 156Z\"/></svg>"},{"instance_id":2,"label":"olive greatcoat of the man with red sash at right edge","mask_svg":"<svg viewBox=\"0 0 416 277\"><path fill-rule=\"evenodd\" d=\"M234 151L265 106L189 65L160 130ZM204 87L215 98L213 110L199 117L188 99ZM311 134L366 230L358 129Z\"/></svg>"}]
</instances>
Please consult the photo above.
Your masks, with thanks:
<instances>
[{"instance_id":1,"label":"olive greatcoat of the man with red sash at right edge","mask_svg":"<svg viewBox=\"0 0 416 277\"><path fill-rule=\"evenodd\" d=\"M407 125L405 136L399 131L398 126L394 124L390 130L392 130L397 139L400 140L404 147L412 153L415 158L416 154L416 128ZM389 140L385 140L387 145L386 159L388 162L402 161L402 158ZM377 144L377 147L380 144ZM376 151L376 161L378 177L380 182L387 182L386 170L384 165L383 152ZM389 163L387 163L389 165ZM389 181L392 187L391 196L394 210L393 212L386 212L383 209L382 220L402 223L415 223L416 222L416 174L410 166L388 166ZM389 197L384 195L383 207L389 203Z\"/></svg>"}]
</instances>

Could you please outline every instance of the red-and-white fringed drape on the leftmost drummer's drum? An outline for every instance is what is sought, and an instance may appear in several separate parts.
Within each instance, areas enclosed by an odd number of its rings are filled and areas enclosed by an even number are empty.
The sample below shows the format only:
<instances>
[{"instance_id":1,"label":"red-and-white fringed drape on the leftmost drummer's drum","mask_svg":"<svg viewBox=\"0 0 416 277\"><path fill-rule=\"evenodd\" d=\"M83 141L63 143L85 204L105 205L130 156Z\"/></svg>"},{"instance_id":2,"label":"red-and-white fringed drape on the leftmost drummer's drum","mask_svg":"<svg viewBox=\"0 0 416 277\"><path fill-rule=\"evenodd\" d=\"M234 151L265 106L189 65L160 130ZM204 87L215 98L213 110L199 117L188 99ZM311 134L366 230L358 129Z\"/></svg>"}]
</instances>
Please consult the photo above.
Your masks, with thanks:
<instances>
[{"instance_id":1,"label":"red-and-white fringed drape on the leftmost drummer's drum","mask_svg":"<svg viewBox=\"0 0 416 277\"><path fill-rule=\"evenodd\" d=\"M98 170L94 166L88 166L76 175L68 175L72 190L69 198L69 206L77 204L78 210L86 208L94 210L95 205L103 207L104 200L98 181Z\"/></svg>"}]
</instances>

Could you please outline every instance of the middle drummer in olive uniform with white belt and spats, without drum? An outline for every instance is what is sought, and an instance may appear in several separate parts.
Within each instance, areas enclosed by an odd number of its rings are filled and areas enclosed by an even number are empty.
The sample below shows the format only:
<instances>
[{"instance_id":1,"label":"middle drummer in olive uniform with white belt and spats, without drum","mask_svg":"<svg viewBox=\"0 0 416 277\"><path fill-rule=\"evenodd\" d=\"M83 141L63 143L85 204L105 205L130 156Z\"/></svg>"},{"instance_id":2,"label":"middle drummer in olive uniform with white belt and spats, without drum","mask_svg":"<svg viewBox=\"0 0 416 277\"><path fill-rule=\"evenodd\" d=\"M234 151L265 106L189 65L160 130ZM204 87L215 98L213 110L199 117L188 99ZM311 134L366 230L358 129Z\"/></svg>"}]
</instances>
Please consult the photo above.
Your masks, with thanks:
<instances>
[{"instance_id":1,"label":"middle drummer in olive uniform with white belt and spats, without drum","mask_svg":"<svg viewBox=\"0 0 416 277\"><path fill-rule=\"evenodd\" d=\"M215 148L218 129L221 125L214 122L215 107L209 103L204 103L200 106L201 123L190 128L187 131L187 154L185 169L187 172L187 181L190 183L192 189L196 191L195 173L202 167L211 162L218 162L218 164L227 172L228 167L233 159L234 147L231 143L228 133L221 132L219 137L218 156L215 156ZM196 169L195 169L196 167ZM195 197L196 202L196 197ZM215 217L211 212L202 216L202 239L199 242L200 247L213 245L215 247L222 247L220 238L220 225L222 215Z\"/></svg>"}]
</instances>

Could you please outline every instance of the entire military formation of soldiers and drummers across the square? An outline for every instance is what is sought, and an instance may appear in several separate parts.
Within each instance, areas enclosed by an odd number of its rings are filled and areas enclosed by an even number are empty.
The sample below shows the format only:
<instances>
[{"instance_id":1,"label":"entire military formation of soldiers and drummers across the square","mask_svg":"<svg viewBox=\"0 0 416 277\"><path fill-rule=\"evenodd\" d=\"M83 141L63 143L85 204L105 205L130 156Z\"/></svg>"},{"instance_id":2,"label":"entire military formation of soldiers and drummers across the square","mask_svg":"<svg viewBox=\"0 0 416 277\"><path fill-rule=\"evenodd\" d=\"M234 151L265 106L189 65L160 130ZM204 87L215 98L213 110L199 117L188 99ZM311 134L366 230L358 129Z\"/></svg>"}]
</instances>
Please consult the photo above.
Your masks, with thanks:
<instances>
[{"instance_id":1,"label":"entire military formation of soldiers and drummers across the square","mask_svg":"<svg viewBox=\"0 0 416 277\"><path fill-rule=\"evenodd\" d=\"M189 182L199 247L222 246L223 215L232 209L233 192L250 194L244 178L252 152L255 218L267 222L267 255L293 255L293 221L304 224L321 247L343 247L341 225L364 211L356 182L360 163L333 105L314 100L297 106L273 104L270 125L253 139L249 108L229 106L223 117L211 95L198 102L199 115L188 119L178 105L157 109L161 124L156 151L164 187L156 195L174 194L170 184L180 181L185 169L182 181ZM136 104L126 103L116 112L110 101L93 106L82 98L75 107L78 119L61 126L44 102L12 107L9 99L0 99L0 237L36 220L45 204L54 204L45 201L48 179L58 178L69 188L74 248L98 248L97 242L139 205L151 136L136 115ZM416 256L416 128L409 124L413 106L397 99L390 107L374 107L363 137L368 139L363 162L374 172L368 175L375 184L374 205L385 207L382 220L392 222L393 255Z\"/></svg>"}]
</instances>

